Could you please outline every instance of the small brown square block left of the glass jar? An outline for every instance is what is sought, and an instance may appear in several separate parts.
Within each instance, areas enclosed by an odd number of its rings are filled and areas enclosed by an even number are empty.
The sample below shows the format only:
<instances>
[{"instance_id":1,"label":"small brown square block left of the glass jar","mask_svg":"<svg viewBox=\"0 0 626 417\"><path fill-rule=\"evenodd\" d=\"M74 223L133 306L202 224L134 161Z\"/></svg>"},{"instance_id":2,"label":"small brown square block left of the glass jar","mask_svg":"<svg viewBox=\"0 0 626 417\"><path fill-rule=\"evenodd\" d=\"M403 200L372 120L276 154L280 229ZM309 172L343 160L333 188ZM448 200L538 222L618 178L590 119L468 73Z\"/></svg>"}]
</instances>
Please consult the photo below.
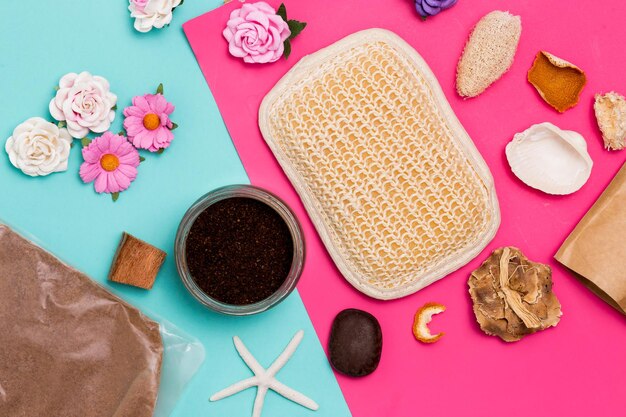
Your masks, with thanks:
<instances>
[{"instance_id":1,"label":"small brown square block left of the glass jar","mask_svg":"<svg viewBox=\"0 0 626 417\"><path fill-rule=\"evenodd\" d=\"M165 252L124 232L117 247L109 279L149 290L154 284Z\"/></svg>"}]
</instances>

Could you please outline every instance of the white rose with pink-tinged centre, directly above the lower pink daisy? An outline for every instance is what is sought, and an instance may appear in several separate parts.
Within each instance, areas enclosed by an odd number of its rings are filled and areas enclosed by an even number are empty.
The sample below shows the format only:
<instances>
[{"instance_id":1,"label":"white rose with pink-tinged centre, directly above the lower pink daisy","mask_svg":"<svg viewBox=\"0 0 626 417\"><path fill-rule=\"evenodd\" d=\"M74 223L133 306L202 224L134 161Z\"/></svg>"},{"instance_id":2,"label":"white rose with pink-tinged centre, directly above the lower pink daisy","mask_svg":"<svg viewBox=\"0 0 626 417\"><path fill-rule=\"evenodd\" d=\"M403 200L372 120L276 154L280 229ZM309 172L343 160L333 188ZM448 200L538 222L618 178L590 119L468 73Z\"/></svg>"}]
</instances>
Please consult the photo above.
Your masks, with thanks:
<instances>
[{"instance_id":1,"label":"white rose with pink-tinged centre, directly above the lower pink daisy","mask_svg":"<svg viewBox=\"0 0 626 417\"><path fill-rule=\"evenodd\" d=\"M59 91L50 101L50 114L65 121L67 130L75 138L92 132L102 133L115 119L117 96L109 91L109 82L84 71L70 72L59 81Z\"/></svg>"}]
</instances>

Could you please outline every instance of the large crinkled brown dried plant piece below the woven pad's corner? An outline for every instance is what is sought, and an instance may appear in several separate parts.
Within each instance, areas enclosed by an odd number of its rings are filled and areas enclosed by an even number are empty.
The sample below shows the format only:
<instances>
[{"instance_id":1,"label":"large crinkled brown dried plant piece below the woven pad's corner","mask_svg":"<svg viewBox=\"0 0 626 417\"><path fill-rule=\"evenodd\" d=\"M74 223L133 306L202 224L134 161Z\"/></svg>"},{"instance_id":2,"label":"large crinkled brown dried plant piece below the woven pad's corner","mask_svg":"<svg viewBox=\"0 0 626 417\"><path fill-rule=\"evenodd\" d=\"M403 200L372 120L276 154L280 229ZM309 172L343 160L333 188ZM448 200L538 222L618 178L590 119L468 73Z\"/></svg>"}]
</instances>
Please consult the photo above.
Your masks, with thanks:
<instances>
[{"instance_id":1,"label":"large crinkled brown dried plant piece below the woven pad's corner","mask_svg":"<svg viewBox=\"0 0 626 417\"><path fill-rule=\"evenodd\" d=\"M506 342L556 326L562 315L550 267L514 247L494 251L468 284L480 328Z\"/></svg>"}]
</instances>

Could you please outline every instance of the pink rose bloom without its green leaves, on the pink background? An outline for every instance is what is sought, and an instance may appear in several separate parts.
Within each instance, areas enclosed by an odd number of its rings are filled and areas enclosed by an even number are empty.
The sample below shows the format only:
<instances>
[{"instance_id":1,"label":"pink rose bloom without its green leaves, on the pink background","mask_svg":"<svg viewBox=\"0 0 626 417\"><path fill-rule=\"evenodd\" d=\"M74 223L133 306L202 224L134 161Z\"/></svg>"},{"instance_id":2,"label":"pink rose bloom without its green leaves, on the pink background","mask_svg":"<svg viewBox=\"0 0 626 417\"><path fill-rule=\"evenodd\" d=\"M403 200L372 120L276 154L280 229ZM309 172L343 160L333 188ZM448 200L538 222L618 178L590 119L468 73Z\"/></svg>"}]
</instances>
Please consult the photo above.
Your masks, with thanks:
<instances>
[{"instance_id":1,"label":"pink rose bloom without its green leaves, on the pink background","mask_svg":"<svg viewBox=\"0 0 626 417\"><path fill-rule=\"evenodd\" d=\"M247 63L263 64L283 55L283 44L291 31L272 6L260 1L233 10L222 34L231 55Z\"/></svg>"}]
</instances>

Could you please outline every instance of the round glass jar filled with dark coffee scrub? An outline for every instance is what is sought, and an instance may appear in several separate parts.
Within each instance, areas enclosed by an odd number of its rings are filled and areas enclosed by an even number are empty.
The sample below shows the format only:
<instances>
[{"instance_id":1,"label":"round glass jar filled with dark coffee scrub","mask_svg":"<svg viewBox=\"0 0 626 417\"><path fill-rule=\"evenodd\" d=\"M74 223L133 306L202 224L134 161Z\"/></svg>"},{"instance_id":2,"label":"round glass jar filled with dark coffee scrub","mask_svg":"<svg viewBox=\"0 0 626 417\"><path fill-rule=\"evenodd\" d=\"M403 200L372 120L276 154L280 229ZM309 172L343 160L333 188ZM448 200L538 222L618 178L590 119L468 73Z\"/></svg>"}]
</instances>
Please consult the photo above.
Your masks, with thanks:
<instances>
[{"instance_id":1,"label":"round glass jar filled with dark coffee scrub","mask_svg":"<svg viewBox=\"0 0 626 417\"><path fill-rule=\"evenodd\" d=\"M302 229L274 194L250 185L218 188L185 213L176 267L189 292L231 315L265 311L296 287L304 266Z\"/></svg>"}]
</instances>

